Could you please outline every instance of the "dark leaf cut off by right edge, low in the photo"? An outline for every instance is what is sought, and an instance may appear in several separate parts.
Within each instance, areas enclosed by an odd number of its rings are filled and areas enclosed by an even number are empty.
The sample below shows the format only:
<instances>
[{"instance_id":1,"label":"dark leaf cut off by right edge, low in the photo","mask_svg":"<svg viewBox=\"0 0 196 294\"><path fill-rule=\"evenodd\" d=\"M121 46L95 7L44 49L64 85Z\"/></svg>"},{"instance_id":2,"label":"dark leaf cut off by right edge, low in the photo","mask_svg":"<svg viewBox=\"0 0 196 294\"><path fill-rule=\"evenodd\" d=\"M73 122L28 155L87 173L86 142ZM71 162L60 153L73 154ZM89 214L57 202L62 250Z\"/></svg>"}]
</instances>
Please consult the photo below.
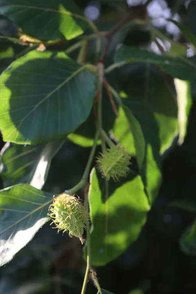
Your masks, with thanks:
<instances>
[{"instance_id":1,"label":"dark leaf cut off by right edge, low in the photo","mask_svg":"<svg viewBox=\"0 0 196 294\"><path fill-rule=\"evenodd\" d=\"M182 234L180 247L185 254L196 255L196 220Z\"/></svg>"}]
</instances>

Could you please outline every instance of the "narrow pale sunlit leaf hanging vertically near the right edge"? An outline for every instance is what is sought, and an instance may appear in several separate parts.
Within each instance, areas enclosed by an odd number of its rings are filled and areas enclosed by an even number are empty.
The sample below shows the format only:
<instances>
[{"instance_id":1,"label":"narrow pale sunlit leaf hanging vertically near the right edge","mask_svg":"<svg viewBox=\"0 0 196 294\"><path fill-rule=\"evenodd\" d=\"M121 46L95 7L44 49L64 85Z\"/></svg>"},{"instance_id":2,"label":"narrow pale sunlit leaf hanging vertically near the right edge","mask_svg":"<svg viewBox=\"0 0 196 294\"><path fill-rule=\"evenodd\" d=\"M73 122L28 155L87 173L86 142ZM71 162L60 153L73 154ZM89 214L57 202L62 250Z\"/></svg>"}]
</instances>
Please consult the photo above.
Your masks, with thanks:
<instances>
[{"instance_id":1,"label":"narrow pale sunlit leaf hanging vertically near the right edge","mask_svg":"<svg viewBox=\"0 0 196 294\"><path fill-rule=\"evenodd\" d=\"M190 82L182 81L177 78L174 78L174 84L178 103L178 144L181 145L187 133L188 118L192 106L191 84Z\"/></svg>"}]
</instances>

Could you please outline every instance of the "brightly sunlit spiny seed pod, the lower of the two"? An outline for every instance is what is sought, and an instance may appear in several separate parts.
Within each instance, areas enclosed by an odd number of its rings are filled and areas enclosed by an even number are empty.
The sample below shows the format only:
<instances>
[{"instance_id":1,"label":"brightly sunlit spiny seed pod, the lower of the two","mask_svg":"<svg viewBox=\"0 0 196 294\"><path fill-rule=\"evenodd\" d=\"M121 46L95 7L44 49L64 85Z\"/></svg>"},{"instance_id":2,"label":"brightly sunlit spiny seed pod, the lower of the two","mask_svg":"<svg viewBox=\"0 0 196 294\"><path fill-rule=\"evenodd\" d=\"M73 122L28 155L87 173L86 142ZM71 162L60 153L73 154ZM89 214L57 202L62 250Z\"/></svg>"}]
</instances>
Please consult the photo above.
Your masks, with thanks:
<instances>
[{"instance_id":1,"label":"brightly sunlit spiny seed pod, the lower of the two","mask_svg":"<svg viewBox=\"0 0 196 294\"><path fill-rule=\"evenodd\" d=\"M84 232L86 210L82 200L68 194L61 194L54 198L49 206L52 223L56 225L58 232L69 231L70 237L78 237L83 244L82 234Z\"/></svg>"}]
</instances>

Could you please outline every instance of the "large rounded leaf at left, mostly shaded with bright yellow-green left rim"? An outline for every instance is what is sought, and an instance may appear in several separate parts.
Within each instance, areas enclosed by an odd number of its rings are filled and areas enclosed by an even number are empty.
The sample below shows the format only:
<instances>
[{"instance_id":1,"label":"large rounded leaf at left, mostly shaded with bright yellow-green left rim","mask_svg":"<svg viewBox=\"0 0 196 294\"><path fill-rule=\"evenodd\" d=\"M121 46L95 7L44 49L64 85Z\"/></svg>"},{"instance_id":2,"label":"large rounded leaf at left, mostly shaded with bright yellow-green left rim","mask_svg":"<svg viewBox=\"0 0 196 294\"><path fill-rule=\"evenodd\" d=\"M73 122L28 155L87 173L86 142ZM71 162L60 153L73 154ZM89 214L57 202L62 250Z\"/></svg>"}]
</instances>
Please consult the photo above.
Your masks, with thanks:
<instances>
[{"instance_id":1,"label":"large rounded leaf at left, mostly shaded with bright yellow-green left rim","mask_svg":"<svg viewBox=\"0 0 196 294\"><path fill-rule=\"evenodd\" d=\"M0 82L3 140L37 144L66 138L88 118L96 76L63 52L34 50L2 73Z\"/></svg>"}]
</instances>

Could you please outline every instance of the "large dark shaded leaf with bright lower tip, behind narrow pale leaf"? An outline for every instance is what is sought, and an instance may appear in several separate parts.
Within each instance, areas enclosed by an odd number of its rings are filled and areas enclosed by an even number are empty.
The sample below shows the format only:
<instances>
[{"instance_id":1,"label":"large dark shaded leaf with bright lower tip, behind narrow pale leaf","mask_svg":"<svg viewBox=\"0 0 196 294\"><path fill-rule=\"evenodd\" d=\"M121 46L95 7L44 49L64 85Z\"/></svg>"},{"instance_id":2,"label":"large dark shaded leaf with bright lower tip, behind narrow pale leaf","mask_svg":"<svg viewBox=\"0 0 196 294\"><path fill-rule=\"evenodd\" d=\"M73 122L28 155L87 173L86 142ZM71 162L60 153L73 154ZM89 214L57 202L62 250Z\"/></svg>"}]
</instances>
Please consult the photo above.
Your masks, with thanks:
<instances>
[{"instance_id":1,"label":"large dark shaded leaf with bright lower tip, behind narrow pale leaf","mask_svg":"<svg viewBox=\"0 0 196 294\"><path fill-rule=\"evenodd\" d=\"M144 116L156 119L160 153L164 153L171 146L178 129L177 99L173 82L147 63L127 65L121 71L121 79L121 95L126 100L133 101L132 107L137 120L143 117L143 113Z\"/></svg>"}]
</instances>

